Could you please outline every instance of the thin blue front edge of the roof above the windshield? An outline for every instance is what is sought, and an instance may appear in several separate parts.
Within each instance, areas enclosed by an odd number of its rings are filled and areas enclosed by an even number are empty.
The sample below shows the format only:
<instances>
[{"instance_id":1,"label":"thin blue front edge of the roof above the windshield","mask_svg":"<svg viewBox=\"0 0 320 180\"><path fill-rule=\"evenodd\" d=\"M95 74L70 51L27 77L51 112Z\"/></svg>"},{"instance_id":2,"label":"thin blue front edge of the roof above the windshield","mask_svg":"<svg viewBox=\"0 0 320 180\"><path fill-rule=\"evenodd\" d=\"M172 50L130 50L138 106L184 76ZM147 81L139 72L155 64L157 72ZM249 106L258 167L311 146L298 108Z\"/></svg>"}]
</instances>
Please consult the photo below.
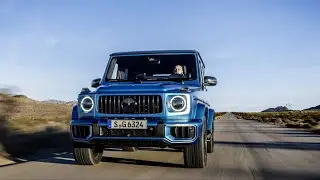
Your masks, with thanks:
<instances>
[{"instance_id":1,"label":"thin blue front edge of the roof above the windshield","mask_svg":"<svg viewBox=\"0 0 320 180\"><path fill-rule=\"evenodd\" d=\"M110 56L126 56L126 55L139 55L139 54L181 54L181 53L198 53L196 50L149 50L149 51L127 51L115 52Z\"/></svg>"}]
</instances>

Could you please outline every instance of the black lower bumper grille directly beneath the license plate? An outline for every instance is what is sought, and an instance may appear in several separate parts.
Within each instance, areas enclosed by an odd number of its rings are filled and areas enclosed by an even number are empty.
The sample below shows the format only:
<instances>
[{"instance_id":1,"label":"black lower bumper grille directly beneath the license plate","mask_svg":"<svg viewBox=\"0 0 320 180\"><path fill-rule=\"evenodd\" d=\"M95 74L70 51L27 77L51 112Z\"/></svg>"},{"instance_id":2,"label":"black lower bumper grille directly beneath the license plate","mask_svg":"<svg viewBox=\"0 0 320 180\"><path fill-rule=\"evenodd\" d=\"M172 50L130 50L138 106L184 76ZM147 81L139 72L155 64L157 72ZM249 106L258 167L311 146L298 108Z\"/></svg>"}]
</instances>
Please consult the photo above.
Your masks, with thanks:
<instances>
[{"instance_id":1,"label":"black lower bumper grille directly beneath the license plate","mask_svg":"<svg viewBox=\"0 0 320 180\"><path fill-rule=\"evenodd\" d=\"M101 135L108 137L162 137L163 132L157 128L152 129L107 129L101 127Z\"/></svg>"}]
</instances>

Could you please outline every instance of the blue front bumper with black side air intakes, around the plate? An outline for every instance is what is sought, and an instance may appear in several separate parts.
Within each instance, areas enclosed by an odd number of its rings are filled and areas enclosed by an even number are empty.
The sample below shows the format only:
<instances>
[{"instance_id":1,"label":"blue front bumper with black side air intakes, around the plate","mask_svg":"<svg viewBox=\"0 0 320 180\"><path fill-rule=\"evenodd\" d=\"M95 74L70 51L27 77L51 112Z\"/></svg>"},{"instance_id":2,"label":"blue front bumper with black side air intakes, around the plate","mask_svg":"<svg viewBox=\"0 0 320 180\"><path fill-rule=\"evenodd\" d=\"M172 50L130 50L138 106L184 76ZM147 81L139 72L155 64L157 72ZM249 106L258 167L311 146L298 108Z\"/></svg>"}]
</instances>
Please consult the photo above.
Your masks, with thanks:
<instances>
[{"instance_id":1,"label":"blue front bumper with black side air intakes, around the plate","mask_svg":"<svg viewBox=\"0 0 320 180\"><path fill-rule=\"evenodd\" d=\"M201 135L201 120L158 122L148 120L146 130L112 130L108 120L71 120L73 142L112 146L184 147L196 143Z\"/></svg>"}]
</instances>

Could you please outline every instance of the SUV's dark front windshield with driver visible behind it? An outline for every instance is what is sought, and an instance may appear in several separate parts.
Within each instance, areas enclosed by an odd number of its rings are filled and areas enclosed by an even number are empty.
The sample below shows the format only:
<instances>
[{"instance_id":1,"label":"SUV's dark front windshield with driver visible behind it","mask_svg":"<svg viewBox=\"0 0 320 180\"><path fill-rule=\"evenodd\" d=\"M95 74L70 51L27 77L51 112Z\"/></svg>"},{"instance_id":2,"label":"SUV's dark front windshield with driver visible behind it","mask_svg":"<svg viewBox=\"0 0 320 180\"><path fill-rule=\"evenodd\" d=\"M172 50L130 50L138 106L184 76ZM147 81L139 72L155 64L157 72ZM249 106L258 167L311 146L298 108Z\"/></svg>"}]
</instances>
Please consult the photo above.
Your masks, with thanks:
<instances>
[{"instance_id":1,"label":"SUV's dark front windshield with driver visible behind it","mask_svg":"<svg viewBox=\"0 0 320 180\"><path fill-rule=\"evenodd\" d=\"M120 56L111 59L105 81L194 80L193 54Z\"/></svg>"}]
</instances>

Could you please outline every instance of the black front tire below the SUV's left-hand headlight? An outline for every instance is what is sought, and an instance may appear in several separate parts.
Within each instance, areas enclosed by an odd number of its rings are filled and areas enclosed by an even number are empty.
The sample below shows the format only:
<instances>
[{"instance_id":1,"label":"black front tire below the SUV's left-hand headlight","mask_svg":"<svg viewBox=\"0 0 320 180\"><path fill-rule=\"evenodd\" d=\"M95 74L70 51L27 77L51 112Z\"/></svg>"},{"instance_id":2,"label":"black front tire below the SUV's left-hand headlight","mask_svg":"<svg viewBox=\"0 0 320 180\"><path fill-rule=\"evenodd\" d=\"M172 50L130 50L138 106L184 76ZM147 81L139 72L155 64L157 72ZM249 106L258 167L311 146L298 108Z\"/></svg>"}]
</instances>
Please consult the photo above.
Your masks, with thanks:
<instances>
[{"instance_id":1,"label":"black front tire below the SUV's left-hand headlight","mask_svg":"<svg viewBox=\"0 0 320 180\"><path fill-rule=\"evenodd\" d=\"M102 159L102 147L88 147L81 144L74 144L73 156L76 164L79 165L95 165L99 164Z\"/></svg>"}]
</instances>

